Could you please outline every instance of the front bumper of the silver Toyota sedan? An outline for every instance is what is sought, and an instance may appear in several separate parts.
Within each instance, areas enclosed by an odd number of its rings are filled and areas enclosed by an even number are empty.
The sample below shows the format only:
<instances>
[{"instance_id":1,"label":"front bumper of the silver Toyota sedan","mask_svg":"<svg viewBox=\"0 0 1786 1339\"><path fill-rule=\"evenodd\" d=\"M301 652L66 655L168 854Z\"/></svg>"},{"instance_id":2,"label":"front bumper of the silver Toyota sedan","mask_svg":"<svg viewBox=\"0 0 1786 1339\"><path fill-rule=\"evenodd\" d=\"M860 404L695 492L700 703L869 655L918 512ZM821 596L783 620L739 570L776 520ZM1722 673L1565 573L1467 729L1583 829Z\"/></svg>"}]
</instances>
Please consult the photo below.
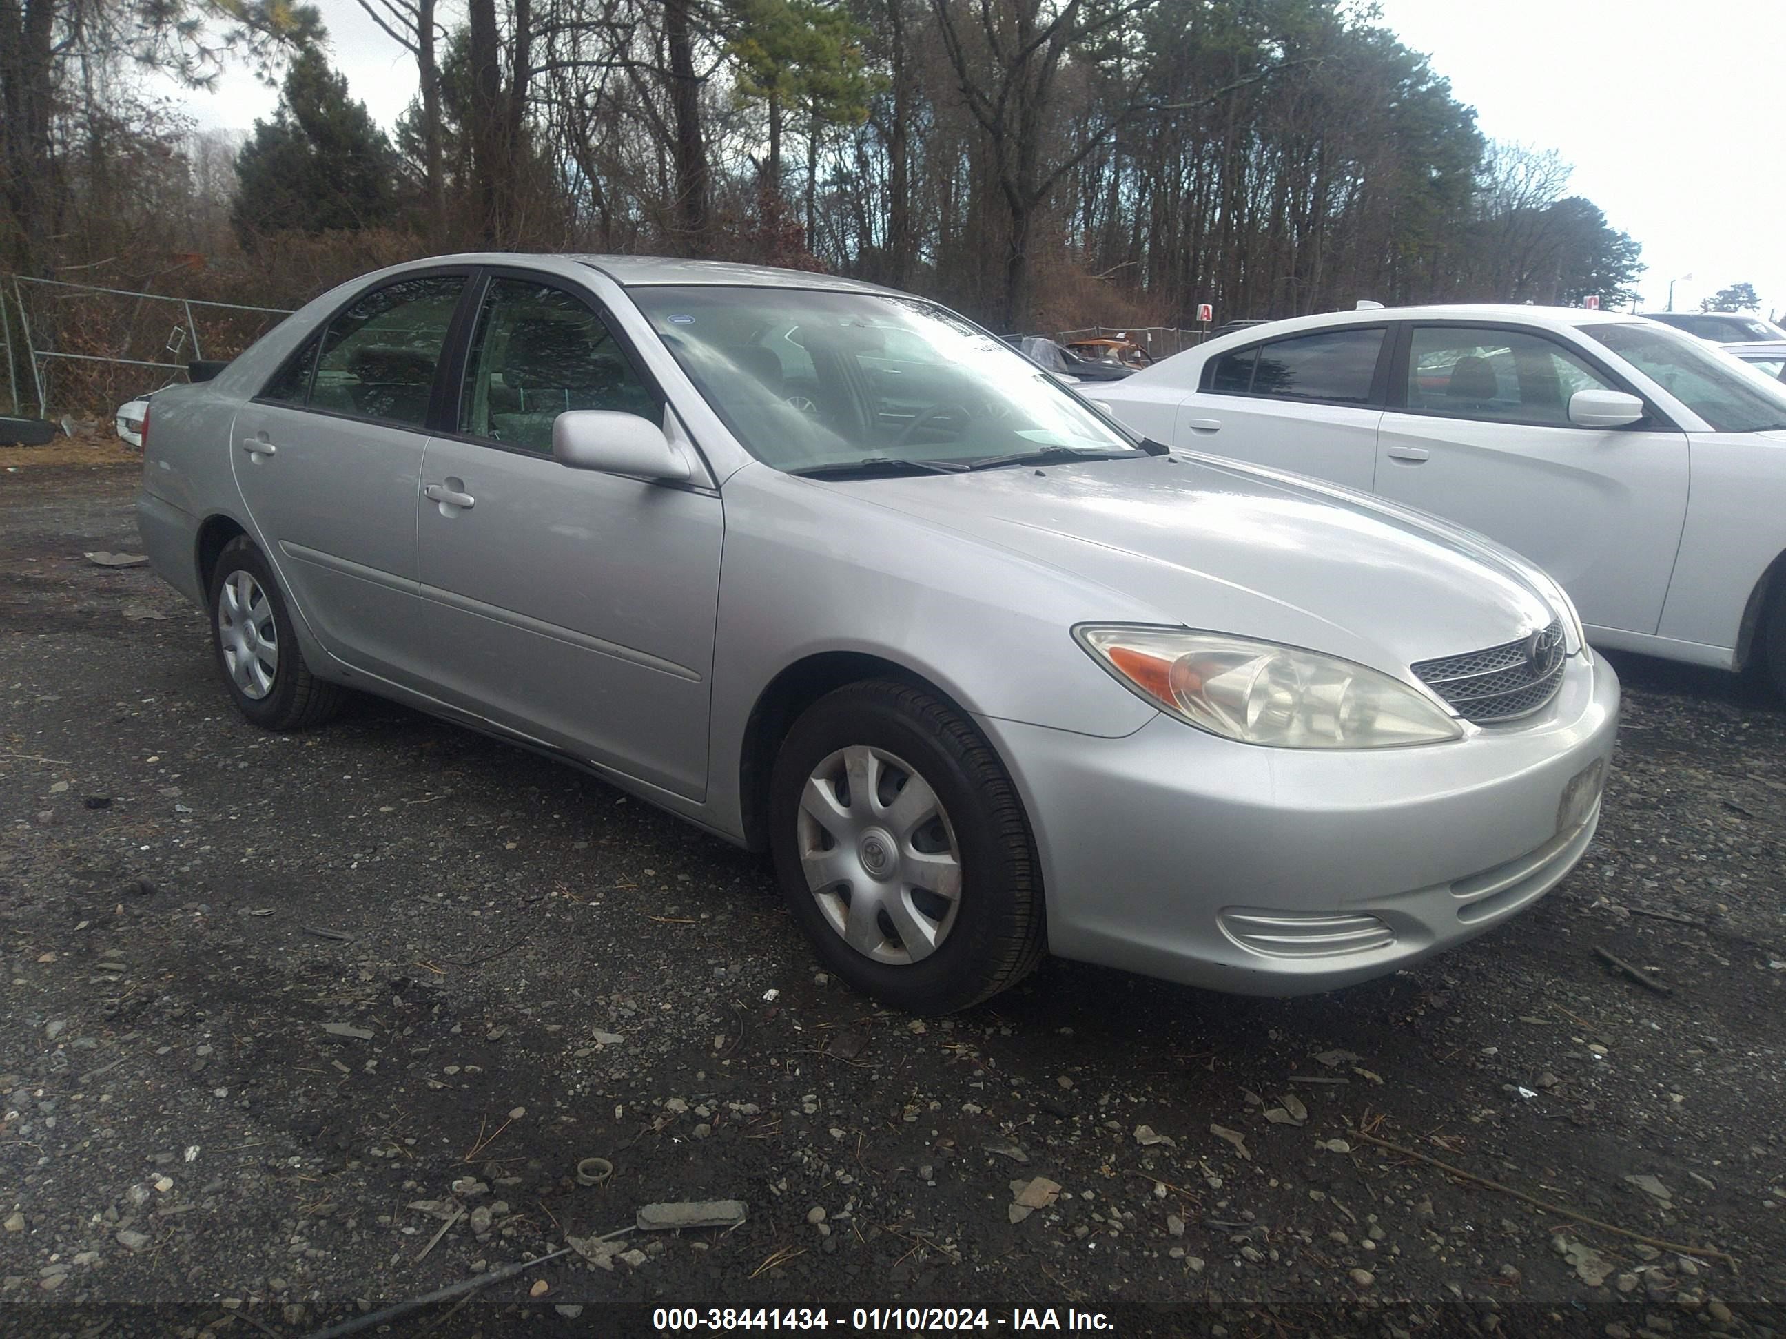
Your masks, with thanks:
<instances>
[{"instance_id":1,"label":"front bumper of the silver Toyota sedan","mask_svg":"<svg viewBox=\"0 0 1786 1339\"><path fill-rule=\"evenodd\" d=\"M1029 809L1050 950L1241 994L1381 977L1536 902L1593 839L1616 725L1591 655L1536 716L1418 748L982 721Z\"/></svg>"}]
</instances>

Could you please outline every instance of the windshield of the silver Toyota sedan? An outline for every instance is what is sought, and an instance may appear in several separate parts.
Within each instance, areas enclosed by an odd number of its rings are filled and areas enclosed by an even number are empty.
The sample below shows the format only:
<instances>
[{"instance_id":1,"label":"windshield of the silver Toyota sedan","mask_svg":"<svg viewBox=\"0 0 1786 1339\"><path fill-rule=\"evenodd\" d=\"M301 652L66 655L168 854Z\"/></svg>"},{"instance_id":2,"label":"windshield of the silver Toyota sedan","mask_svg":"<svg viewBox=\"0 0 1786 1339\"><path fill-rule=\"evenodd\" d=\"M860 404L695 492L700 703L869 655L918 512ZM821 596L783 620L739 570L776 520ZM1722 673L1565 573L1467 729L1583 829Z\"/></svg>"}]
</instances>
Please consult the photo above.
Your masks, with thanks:
<instances>
[{"instance_id":1,"label":"windshield of the silver Toyota sedan","mask_svg":"<svg viewBox=\"0 0 1786 1339\"><path fill-rule=\"evenodd\" d=\"M725 425L777 470L1145 455L1009 345L927 302L718 286L630 296Z\"/></svg>"}]
</instances>

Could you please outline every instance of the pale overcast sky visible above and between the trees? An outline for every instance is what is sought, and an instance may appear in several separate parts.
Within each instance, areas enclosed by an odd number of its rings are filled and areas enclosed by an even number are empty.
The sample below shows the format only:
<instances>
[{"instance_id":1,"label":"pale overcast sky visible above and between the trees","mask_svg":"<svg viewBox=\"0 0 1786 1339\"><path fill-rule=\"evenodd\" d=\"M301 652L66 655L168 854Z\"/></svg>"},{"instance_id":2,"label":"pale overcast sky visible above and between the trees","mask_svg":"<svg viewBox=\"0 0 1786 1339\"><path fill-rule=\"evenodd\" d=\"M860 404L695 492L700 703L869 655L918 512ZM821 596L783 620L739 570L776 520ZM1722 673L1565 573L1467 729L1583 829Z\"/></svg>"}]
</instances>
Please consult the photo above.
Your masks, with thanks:
<instances>
[{"instance_id":1,"label":"pale overcast sky visible above and between the trees","mask_svg":"<svg viewBox=\"0 0 1786 1339\"><path fill-rule=\"evenodd\" d=\"M1495 139L1554 148L1572 191L1643 243L1643 307L1748 280L1786 307L1786 157L1772 118L1782 0L1379 0L1382 21L1452 82ZM414 96L407 52L355 0L320 0L332 59L389 127ZM230 71L184 95L200 125L246 130L271 89ZM1693 275L1686 279L1684 275Z\"/></svg>"}]
</instances>

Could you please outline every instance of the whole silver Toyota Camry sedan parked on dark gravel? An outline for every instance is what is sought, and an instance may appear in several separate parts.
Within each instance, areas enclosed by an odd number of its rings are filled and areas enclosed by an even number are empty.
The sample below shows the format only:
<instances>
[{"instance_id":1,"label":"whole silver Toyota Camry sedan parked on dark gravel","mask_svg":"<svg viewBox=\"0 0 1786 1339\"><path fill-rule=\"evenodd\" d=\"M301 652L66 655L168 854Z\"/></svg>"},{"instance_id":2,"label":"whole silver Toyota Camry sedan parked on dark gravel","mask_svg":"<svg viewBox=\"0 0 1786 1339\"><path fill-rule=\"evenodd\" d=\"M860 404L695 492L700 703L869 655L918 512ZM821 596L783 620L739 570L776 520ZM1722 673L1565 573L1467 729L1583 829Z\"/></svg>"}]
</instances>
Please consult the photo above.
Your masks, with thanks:
<instances>
[{"instance_id":1,"label":"whole silver Toyota Camry sedan parked on dark gravel","mask_svg":"<svg viewBox=\"0 0 1786 1339\"><path fill-rule=\"evenodd\" d=\"M1593 837L1541 571L1131 436L931 302L698 261L368 275L163 391L138 512L238 711L377 693L768 852L913 1010L1045 952L1254 994L1461 943Z\"/></svg>"}]
</instances>

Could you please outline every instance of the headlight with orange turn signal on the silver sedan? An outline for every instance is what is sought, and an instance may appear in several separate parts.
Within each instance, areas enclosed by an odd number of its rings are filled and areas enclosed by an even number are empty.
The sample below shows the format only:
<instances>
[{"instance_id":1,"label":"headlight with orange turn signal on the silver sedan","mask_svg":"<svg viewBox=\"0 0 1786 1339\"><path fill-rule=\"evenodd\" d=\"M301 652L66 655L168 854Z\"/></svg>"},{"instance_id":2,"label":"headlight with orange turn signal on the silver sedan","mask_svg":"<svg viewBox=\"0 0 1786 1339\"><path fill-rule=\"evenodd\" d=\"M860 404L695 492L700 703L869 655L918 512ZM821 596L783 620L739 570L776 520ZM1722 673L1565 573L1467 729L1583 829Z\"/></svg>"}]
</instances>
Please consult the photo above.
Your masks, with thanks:
<instances>
[{"instance_id":1,"label":"headlight with orange turn signal on the silver sedan","mask_svg":"<svg viewBox=\"0 0 1786 1339\"><path fill-rule=\"evenodd\" d=\"M1438 703L1332 655L1186 628L1073 628L1123 687L1225 739L1275 748L1395 748L1457 739Z\"/></svg>"}]
</instances>

